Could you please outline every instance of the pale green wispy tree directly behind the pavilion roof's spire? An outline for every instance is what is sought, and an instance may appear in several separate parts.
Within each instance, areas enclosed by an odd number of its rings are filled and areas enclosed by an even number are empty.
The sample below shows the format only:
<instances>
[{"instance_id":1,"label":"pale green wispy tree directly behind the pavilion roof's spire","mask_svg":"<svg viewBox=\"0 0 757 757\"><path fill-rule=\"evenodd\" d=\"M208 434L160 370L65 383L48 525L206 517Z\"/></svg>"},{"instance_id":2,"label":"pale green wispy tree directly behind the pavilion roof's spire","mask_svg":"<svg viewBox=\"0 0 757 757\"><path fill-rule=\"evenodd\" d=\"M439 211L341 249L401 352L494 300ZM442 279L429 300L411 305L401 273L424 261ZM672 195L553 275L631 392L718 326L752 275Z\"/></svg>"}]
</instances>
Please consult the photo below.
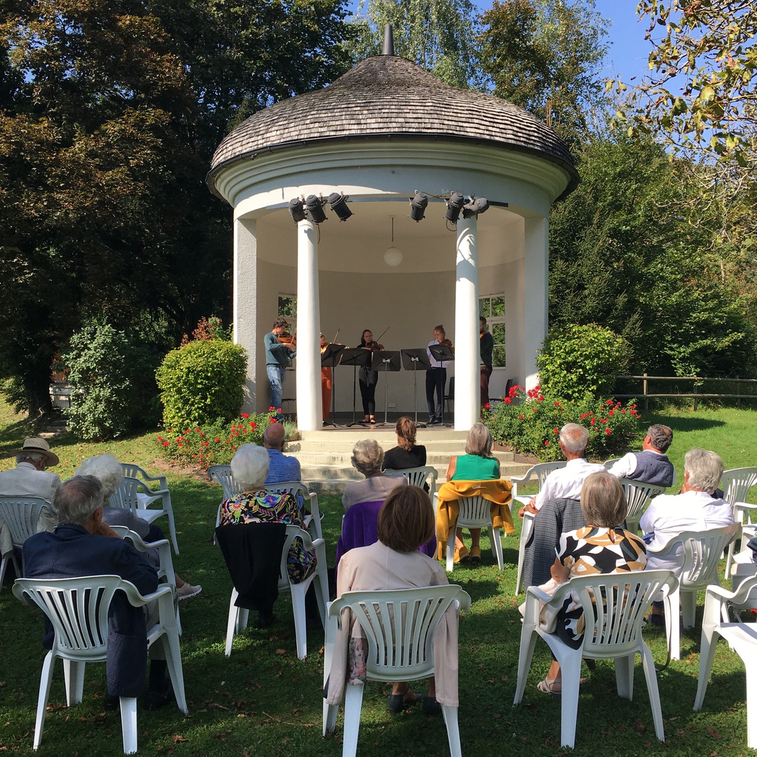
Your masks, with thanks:
<instances>
[{"instance_id":1,"label":"pale green wispy tree directly behind the pavilion roof's spire","mask_svg":"<svg viewBox=\"0 0 757 757\"><path fill-rule=\"evenodd\" d=\"M452 86L480 86L471 0L361 0L352 21L353 61L380 55L384 27L394 30L394 51Z\"/></svg>"}]
</instances>

